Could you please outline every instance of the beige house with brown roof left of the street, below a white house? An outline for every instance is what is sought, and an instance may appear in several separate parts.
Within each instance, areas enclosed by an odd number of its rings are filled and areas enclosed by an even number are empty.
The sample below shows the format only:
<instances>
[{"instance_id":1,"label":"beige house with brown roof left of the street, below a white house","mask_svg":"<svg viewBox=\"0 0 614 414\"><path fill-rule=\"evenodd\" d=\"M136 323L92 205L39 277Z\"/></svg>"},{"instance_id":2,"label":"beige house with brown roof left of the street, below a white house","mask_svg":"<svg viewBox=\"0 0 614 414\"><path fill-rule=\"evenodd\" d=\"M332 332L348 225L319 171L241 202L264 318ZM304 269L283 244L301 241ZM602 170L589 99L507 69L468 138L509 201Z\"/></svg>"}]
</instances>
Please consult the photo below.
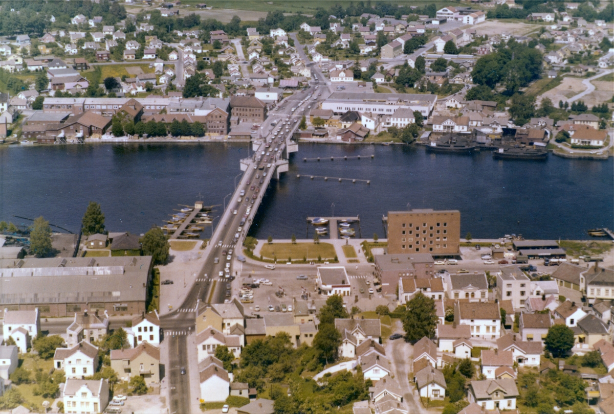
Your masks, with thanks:
<instances>
[{"instance_id":1,"label":"beige house with brown roof left of the street, below a white house","mask_svg":"<svg viewBox=\"0 0 614 414\"><path fill-rule=\"evenodd\" d=\"M160 383L160 348L147 342L136 348L111 350L111 369L122 381L141 376L147 386Z\"/></svg>"}]
</instances>

